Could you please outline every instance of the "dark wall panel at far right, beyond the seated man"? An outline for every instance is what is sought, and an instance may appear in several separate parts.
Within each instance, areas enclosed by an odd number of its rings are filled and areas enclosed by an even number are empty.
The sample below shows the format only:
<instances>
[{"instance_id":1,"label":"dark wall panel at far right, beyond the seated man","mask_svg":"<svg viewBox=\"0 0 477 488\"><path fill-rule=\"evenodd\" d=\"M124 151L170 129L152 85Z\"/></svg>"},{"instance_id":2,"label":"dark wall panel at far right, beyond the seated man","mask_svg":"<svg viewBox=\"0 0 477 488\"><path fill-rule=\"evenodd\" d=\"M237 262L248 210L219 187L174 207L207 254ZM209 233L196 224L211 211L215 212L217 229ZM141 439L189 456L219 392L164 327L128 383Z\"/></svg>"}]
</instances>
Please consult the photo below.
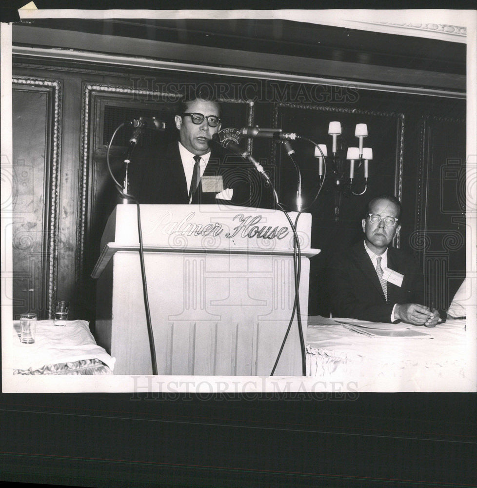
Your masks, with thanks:
<instances>
[{"instance_id":1,"label":"dark wall panel at far right, beyond the seated man","mask_svg":"<svg viewBox=\"0 0 477 488\"><path fill-rule=\"evenodd\" d=\"M410 244L432 302L445 309L466 272L465 122L423 117L419 124L416 227Z\"/></svg>"}]
</instances>

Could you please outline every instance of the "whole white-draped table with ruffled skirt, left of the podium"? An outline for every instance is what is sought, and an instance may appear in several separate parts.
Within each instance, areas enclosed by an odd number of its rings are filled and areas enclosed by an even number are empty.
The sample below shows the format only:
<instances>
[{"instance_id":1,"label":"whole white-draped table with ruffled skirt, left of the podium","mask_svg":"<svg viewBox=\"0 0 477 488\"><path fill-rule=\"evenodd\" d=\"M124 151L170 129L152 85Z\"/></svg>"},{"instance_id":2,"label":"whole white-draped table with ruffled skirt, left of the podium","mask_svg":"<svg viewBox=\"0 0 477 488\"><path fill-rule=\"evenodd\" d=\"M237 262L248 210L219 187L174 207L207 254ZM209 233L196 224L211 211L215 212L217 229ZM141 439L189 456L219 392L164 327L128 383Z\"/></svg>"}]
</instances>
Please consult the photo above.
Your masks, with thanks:
<instances>
[{"instance_id":1,"label":"whole white-draped table with ruffled skirt, left of the podium","mask_svg":"<svg viewBox=\"0 0 477 488\"><path fill-rule=\"evenodd\" d=\"M20 343L20 321L13 322L13 374L113 374L115 358L96 344L85 320L68 320L56 326L39 320L34 344Z\"/></svg>"}]
</instances>

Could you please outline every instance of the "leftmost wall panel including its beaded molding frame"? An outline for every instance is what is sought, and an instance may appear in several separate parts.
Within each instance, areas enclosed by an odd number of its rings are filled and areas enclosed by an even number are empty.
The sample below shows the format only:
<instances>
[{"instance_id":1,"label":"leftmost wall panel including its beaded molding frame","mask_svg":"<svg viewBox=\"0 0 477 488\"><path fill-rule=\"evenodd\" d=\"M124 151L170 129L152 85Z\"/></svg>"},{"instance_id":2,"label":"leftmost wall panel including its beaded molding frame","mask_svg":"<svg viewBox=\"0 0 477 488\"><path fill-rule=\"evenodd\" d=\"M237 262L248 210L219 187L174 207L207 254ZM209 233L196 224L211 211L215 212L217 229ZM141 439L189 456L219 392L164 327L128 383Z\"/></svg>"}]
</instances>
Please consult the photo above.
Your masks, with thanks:
<instances>
[{"instance_id":1,"label":"leftmost wall panel including its beaded molding frame","mask_svg":"<svg viewBox=\"0 0 477 488\"><path fill-rule=\"evenodd\" d=\"M48 318L57 291L61 83L12 82L14 316Z\"/></svg>"}]
</instances>

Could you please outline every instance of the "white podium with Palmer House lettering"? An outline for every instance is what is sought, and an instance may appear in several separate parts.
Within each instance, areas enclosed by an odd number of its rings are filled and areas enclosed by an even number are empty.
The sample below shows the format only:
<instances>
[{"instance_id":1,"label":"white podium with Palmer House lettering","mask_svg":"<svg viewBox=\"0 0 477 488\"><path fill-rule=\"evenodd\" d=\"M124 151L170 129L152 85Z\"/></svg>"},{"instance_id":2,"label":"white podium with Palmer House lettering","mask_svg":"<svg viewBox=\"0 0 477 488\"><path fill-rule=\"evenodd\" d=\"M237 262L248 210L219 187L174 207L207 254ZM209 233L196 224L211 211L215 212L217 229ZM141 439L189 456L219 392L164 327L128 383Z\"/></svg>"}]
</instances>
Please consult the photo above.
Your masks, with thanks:
<instances>
[{"instance_id":1,"label":"white podium with Palmer House lettering","mask_svg":"<svg viewBox=\"0 0 477 488\"><path fill-rule=\"evenodd\" d=\"M296 213L290 218L295 222ZM295 298L293 233L281 211L215 205L140 205L159 375L270 375ZM311 214L298 219L299 296L306 340ZM101 239L96 340L115 374L152 374L137 206L120 204ZM298 322L275 375L301 376Z\"/></svg>"}]
</instances>

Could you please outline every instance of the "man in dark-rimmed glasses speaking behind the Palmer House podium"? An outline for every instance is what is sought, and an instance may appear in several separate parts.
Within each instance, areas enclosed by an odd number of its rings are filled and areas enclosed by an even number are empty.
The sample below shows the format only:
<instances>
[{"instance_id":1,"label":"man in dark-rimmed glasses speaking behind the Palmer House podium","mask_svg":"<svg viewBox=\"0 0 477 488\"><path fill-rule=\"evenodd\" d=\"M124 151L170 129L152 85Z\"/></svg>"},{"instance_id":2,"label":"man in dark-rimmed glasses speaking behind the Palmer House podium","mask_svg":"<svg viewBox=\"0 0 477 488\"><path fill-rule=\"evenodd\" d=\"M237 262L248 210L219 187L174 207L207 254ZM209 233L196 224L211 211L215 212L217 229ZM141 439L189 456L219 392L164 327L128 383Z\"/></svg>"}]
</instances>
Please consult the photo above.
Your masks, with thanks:
<instances>
[{"instance_id":1,"label":"man in dark-rimmed glasses speaking behind the Palmer House podium","mask_svg":"<svg viewBox=\"0 0 477 488\"><path fill-rule=\"evenodd\" d=\"M139 203L225 201L249 206L246 164L211 141L220 130L220 115L220 104L200 94L180 102L174 118L179 141L160 148L157 155L134 158L129 171L129 193Z\"/></svg>"}]
</instances>

